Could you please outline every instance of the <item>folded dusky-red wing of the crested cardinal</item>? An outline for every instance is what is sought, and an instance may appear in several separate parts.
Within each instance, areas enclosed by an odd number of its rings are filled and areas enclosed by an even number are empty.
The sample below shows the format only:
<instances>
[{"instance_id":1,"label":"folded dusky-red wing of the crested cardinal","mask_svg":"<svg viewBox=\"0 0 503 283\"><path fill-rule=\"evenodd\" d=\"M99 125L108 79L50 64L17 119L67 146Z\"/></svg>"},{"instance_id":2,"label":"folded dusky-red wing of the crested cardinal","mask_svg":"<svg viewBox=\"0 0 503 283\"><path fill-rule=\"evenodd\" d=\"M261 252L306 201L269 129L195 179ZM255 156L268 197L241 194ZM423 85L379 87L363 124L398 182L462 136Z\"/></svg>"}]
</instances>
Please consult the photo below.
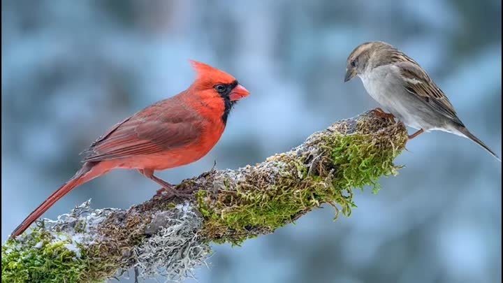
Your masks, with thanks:
<instances>
[{"instance_id":1,"label":"folded dusky-red wing of the crested cardinal","mask_svg":"<svg viewBox=\"0 0 503 283\"><path fill-rule=\"evenodd\" d=\"M89 147L84 161L103 161L156 154L195 143L199 117L187 108L156 104L115 125Z\"/></svg>"}]
</instances>

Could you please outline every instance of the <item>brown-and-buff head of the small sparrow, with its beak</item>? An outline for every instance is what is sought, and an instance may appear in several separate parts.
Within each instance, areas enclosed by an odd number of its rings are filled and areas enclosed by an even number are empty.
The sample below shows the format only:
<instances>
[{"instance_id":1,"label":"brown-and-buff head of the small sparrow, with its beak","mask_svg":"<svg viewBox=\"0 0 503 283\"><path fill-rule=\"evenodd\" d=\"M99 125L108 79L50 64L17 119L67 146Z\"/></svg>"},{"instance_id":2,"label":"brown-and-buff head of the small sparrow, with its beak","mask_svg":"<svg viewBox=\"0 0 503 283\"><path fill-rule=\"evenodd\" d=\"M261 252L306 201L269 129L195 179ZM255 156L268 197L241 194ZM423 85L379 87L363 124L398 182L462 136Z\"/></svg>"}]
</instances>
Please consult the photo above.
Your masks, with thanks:
<instances>
[{"instance_id":1,"label":"brown-and-buff head of the small sparrow, with its beak","mask_svg":"<svg viewBox=\"0 0 503 283\"><path fill-rule=\"evenodd\" d=\"M386 57L386 53L391 50L395 50L395 48L382 41L372 41L358 45L347 59L344 82L375 68L379 64L379 58Z\"/></svg>"}]
</instances>

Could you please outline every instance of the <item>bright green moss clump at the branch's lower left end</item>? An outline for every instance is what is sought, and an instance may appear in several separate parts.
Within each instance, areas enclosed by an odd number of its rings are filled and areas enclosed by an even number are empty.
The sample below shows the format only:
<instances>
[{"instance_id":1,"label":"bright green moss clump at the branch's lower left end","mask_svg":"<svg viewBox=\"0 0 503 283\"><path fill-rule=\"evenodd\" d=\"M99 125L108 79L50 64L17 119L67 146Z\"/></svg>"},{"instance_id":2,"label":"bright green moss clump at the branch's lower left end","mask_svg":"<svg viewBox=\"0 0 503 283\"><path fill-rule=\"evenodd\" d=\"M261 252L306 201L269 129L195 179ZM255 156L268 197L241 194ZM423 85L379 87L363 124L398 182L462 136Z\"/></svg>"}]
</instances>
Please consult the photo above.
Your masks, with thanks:
<instances>
[{"instance_id":1,"label":"bright green moss clump at the branch's lower left end","mask_svg":"<svg viewBox=\"0 0 503 283\"><path fill-rule=\"evenodd\" d=\"M41 229L34 230L24 240L22 243L7 240L2 245L3 283L81 282L87 259L65 247L71 240L54 241Z\"/></svg>"}]
</instances>

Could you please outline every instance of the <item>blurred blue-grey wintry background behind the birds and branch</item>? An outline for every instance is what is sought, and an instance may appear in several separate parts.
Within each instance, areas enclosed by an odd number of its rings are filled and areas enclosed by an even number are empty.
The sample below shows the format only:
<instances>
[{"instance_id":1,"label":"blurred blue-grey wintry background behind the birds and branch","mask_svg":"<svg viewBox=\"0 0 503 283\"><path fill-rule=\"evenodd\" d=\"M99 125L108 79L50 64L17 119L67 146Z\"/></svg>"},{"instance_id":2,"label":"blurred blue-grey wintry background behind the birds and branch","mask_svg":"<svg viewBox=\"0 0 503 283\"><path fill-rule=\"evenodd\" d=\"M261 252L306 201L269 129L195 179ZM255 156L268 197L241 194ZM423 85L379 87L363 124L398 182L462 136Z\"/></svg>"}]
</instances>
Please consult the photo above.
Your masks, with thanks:
<instances>
[{"instance_id":1,"label":"blurred blue-grey wintry background behind the birds and branch","mask_svg":"<svg viewBox=\"0 0 503 283\"><path fill-rule=\"evenodd\" d=\"M2 1L1 240L80 166L109 126L191 84L188 59L235 75L251 95L201 161L171 182L254 164L377 104L345 59L387 41L416 59L461 119L501 154L501 2ZM501 282L502 164L469 140L423 134L383 189L247 240L214 245L198 282ZM128 208L159 186L115 171L54 205ZM122 279L120 282L133 282ZM145 282L155 282L147 280ZM187 280L187 282L196 282Z\"/></svg>"}]
</instances>

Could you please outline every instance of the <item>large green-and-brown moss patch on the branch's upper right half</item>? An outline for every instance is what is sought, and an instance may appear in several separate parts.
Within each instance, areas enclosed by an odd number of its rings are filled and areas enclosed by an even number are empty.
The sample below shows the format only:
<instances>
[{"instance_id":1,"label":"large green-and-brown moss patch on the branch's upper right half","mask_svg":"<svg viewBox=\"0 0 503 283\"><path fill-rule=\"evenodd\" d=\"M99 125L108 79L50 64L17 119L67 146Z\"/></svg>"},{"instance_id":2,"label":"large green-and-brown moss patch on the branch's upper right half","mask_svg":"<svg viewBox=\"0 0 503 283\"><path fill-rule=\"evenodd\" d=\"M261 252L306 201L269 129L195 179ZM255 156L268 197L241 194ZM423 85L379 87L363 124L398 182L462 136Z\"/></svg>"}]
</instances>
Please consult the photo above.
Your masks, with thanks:
<instances>
[{"instance_id":1,"label":"large green-and-brown moss patch on the branch's upper right half","mask_svg":"<svg viewBox=\"0 0 503 283\"><path fill-rule=\"evenodd\" d=\"M367 185L379 190L381 176L394 175L393 159L400 154L407 135L399 126L388 131L363 128L352 134L335 132L315 138L319 152L279 154L247 173L244 182L218 194L198 191L198 209L205 218L203 234L212 242L239 245L247 238L269 233L323 203L351 215L353 188ZM377 125L380 126L380 125ZM395 137L391 140L390 135ZM270 172L279 172L274 182ZM271 184L272 183L272 184Z\"/></svg>"}]
</instances>

